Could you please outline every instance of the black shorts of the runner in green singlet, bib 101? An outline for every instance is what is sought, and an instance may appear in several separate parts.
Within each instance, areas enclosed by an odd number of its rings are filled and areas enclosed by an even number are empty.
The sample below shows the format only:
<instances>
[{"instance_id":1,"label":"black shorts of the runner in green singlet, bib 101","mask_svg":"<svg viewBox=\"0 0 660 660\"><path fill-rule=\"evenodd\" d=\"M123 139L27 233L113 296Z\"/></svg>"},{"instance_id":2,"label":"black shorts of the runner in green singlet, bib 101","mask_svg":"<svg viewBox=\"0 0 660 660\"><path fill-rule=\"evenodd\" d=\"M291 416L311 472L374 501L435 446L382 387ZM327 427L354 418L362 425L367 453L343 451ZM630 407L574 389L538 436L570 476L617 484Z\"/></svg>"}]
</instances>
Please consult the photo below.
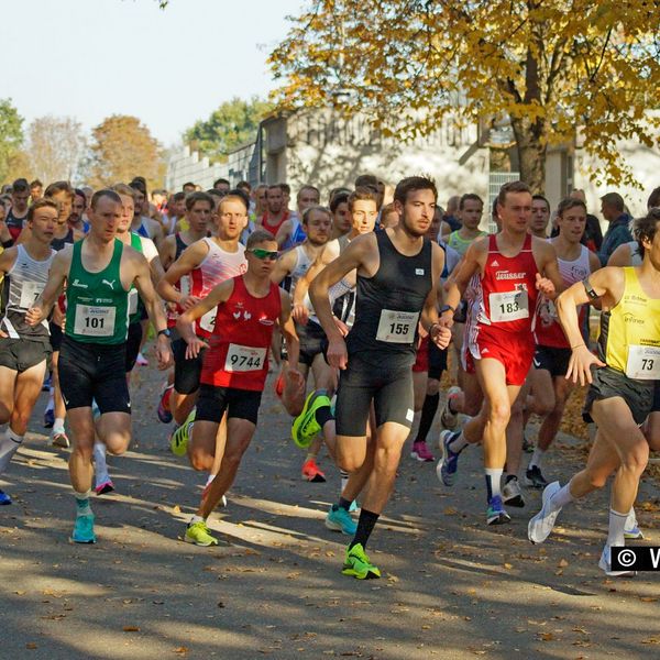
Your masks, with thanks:
<instances>
[{"instance_id":1,"label":"black shorts of the runner in green singlet, bib 101","mask_svg":"<svg viewBox=\"0 0 660 660\"><path fill-rule=\"evenodd\" d=\"M59 348L59 387L67 410L91 407L101 414L131 413L125 376L127 344L95 344L67 337Z\"/></svg>"}]
</instances>

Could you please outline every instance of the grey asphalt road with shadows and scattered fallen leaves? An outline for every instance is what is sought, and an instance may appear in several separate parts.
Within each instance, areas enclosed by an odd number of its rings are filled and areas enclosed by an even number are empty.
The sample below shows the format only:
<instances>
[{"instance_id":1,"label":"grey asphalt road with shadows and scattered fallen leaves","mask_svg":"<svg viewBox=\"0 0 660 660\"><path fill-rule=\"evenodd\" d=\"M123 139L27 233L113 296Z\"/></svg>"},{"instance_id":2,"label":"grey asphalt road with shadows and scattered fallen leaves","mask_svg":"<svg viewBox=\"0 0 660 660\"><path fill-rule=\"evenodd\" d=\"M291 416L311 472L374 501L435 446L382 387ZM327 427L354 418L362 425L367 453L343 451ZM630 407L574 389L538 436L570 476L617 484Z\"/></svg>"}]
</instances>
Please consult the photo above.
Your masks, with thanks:
<instances>
[{"instance_id":1,"label":"grey asphalt road with shadows and scattered fallen leaves","mask_svg":"<svg viewBox=\"0 0 660 660\"><path fill-rule=\"evenodd\" d=\"M204 476L167 450L161 376L136 369L135 442L109 459L117 493L92 502L96 546L68 542L68 452L47 444L41 415L0 481L14 498L0 508L0 658L659 657L660 575L615 580L597 568L607 494L562 513L557 534L531 546L540 494L509 509L510 525L486 527L475 448L452 491L406 451L369 547L383 578L343 576L348 539L323 526L339 474L324 458L327 483L299 479L302 455L270 384L229 506L210 519L231 544L184 543ZM570 438L559 444L546 471L563 482L584 453ZM660 544L657 482L639 502L645 542Z\"/></svg>"}]
</instances>

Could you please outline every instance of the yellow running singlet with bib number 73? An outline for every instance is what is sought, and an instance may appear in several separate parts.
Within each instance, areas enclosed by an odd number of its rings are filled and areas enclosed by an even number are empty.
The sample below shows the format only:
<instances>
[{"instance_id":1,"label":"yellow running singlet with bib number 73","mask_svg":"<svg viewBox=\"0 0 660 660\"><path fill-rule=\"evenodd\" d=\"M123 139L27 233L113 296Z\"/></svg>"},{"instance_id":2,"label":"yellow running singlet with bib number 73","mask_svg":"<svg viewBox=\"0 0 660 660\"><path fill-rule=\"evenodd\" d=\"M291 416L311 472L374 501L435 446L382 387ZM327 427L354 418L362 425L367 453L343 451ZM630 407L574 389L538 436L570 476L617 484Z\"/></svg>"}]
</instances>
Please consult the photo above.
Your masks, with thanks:
<instances>
[{"instance_id":1,"label":"yellow running singlet with bib number 73","mask_svg":"<svg viewBox=\"0 0 660 660\"><path fill-rule=\"evenodd\" d=\"M622 299L601 315L598 358L636 381L660 380L660 299L649 298L637 272L624 268Z\"/></svg>"}]
</instances>

